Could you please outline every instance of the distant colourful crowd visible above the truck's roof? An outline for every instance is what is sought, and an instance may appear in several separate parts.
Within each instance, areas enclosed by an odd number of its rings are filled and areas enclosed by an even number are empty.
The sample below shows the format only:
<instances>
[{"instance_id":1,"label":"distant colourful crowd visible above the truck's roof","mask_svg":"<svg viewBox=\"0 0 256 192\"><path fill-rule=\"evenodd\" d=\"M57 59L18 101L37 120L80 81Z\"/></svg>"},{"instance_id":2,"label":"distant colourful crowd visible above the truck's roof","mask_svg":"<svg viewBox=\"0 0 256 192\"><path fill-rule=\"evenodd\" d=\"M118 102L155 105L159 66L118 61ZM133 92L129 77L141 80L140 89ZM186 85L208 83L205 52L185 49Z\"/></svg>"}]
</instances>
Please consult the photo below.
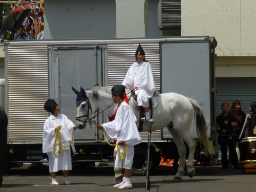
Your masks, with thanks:
<instances>
[{"instance_id":1,"label":"distant colourful crowd visible above the truck's roof","mask_svg":"<svg viewBox=\"0 0 256 192\"><path fill-rule=\"evenodd\" d=\"M44 16L32 18L29 13L22 25L18 27L15 33L11 29L3 28L0 31L1 43L5 40L30 40L44 39Z\"/></svg>"}]
</instances>

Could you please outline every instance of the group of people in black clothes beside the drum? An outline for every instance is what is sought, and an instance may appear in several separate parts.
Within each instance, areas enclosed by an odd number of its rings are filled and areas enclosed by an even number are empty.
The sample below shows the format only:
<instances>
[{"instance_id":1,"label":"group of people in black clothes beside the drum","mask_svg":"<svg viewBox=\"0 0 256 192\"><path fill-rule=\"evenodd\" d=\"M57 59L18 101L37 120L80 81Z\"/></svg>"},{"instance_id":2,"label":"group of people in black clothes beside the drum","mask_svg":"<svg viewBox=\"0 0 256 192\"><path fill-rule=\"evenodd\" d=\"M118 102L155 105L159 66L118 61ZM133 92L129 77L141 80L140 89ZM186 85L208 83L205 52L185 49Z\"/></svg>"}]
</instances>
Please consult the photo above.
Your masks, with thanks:
<instances>
[{"instance_id":1,"label":"group of people in black clothes beside the drum","mask_svg":"<svg viewBox=\"0 0 256 192\"><path fill-rule=\"evenodd\" d=\"M233 166L234 169L239 169L236 146L238 144L240 148L240 142L243 138L256 136L256 102L250 103L251 114L247 114L247 120L239 100L232 102L230 110L227 102L222 103L221 109L222 113L217 116L216 123L219 134L218 144L221 147L222 168L227 169L229 166ZM227 146L229 147L229 160Z\"/></svg>"}]
</instances>

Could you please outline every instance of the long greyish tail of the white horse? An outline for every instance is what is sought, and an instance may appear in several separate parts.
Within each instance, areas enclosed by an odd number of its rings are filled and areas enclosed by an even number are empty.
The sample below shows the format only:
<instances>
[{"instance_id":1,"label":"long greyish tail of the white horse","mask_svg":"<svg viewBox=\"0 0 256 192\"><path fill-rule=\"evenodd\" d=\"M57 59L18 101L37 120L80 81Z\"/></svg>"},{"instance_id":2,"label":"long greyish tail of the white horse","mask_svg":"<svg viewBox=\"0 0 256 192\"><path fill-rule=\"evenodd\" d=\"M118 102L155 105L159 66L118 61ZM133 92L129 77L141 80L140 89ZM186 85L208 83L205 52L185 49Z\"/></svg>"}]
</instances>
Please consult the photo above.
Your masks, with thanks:
<instances>
[{"instance_id":1,"label":"long greyish tail of the white horse","mask_svg":"<svg viewBox=\"0 0 256 192\"><path fill-rule=\"evenodd\" d=\"M215 154L214 147L212 146L212 143L210 142L207 136L207 126L206 126L203 111L201 110L200 106L197 104L195 100L189 99L189 101L194 108L195 120L196 120L196 126L197 126L197 135L200 138L201 151L202 151L202 147L204 147L206 156L214 155Z\"/></svg>"}]
</instances>

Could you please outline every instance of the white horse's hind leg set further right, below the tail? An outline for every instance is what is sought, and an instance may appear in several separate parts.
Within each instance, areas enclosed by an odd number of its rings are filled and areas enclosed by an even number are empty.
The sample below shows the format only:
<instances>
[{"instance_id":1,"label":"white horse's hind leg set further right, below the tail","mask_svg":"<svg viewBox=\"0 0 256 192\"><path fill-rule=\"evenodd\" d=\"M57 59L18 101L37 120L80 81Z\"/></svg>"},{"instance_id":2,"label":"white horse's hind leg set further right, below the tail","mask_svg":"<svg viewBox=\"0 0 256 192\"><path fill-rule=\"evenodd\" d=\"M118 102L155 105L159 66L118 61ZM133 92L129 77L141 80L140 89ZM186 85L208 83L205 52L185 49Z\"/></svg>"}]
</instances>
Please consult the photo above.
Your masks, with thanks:
<instances>
[{"instance_id":1,"label":"white horse's hind leg set further right, below the tail","mask_svg":"<svg viewBox=\"0 0 256 192\"><path fill-rule=\"evenodd\" d=\"M187 160L187 174L190 178L192 178L196 174L196 170L193 165L193 158L195 155L195 150L197 147L197 141L191 137L189 132L185 132L180 134L182 139L187 143L187 146L189 148L189 155Z\"/></svg>"}]
</instances>

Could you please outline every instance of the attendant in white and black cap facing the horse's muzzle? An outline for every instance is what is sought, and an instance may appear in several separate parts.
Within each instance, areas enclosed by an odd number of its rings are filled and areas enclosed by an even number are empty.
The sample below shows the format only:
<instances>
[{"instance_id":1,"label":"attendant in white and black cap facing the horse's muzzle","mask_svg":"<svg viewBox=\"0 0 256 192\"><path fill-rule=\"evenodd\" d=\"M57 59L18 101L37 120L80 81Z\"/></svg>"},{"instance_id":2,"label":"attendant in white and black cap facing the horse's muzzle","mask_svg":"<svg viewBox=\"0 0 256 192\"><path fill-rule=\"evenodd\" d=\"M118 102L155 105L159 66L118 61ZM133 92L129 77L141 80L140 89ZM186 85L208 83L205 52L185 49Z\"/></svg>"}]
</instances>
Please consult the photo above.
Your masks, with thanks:
<instances>
[{"instance_id":1,"label":"attendant in white and black cap facing the horse's muzzle","mask_svg":"<svg viewBox=\"0 0 256 192\"><path fill-rule=\"evenodd\" d=\"M48 119L45 121L44 133L42 137L42 152L47 153L49 158L49 169L52 177L52 183L50 184L59 185L56 181L56 172L58 172L58 170L63 170L64 184L70 185L70 182L68 181L69 170L72 170L70 146L72 147L73 153L75 153L74 142L72 142L68 147L61 147L62 153L60 156L56 156L60 152L57 139L54 148L56 155L53 153L53 147L57 126L61 126L59 133L61 144L63 146L69 145L72 141L73 130L76 130L76 126L67 118L67 116L59 113L60 108L53 99L48 99L44 108L46 111L52 113L52 115L50 115L50 117L48 117Z\"/></svg>"}]
</instances>

